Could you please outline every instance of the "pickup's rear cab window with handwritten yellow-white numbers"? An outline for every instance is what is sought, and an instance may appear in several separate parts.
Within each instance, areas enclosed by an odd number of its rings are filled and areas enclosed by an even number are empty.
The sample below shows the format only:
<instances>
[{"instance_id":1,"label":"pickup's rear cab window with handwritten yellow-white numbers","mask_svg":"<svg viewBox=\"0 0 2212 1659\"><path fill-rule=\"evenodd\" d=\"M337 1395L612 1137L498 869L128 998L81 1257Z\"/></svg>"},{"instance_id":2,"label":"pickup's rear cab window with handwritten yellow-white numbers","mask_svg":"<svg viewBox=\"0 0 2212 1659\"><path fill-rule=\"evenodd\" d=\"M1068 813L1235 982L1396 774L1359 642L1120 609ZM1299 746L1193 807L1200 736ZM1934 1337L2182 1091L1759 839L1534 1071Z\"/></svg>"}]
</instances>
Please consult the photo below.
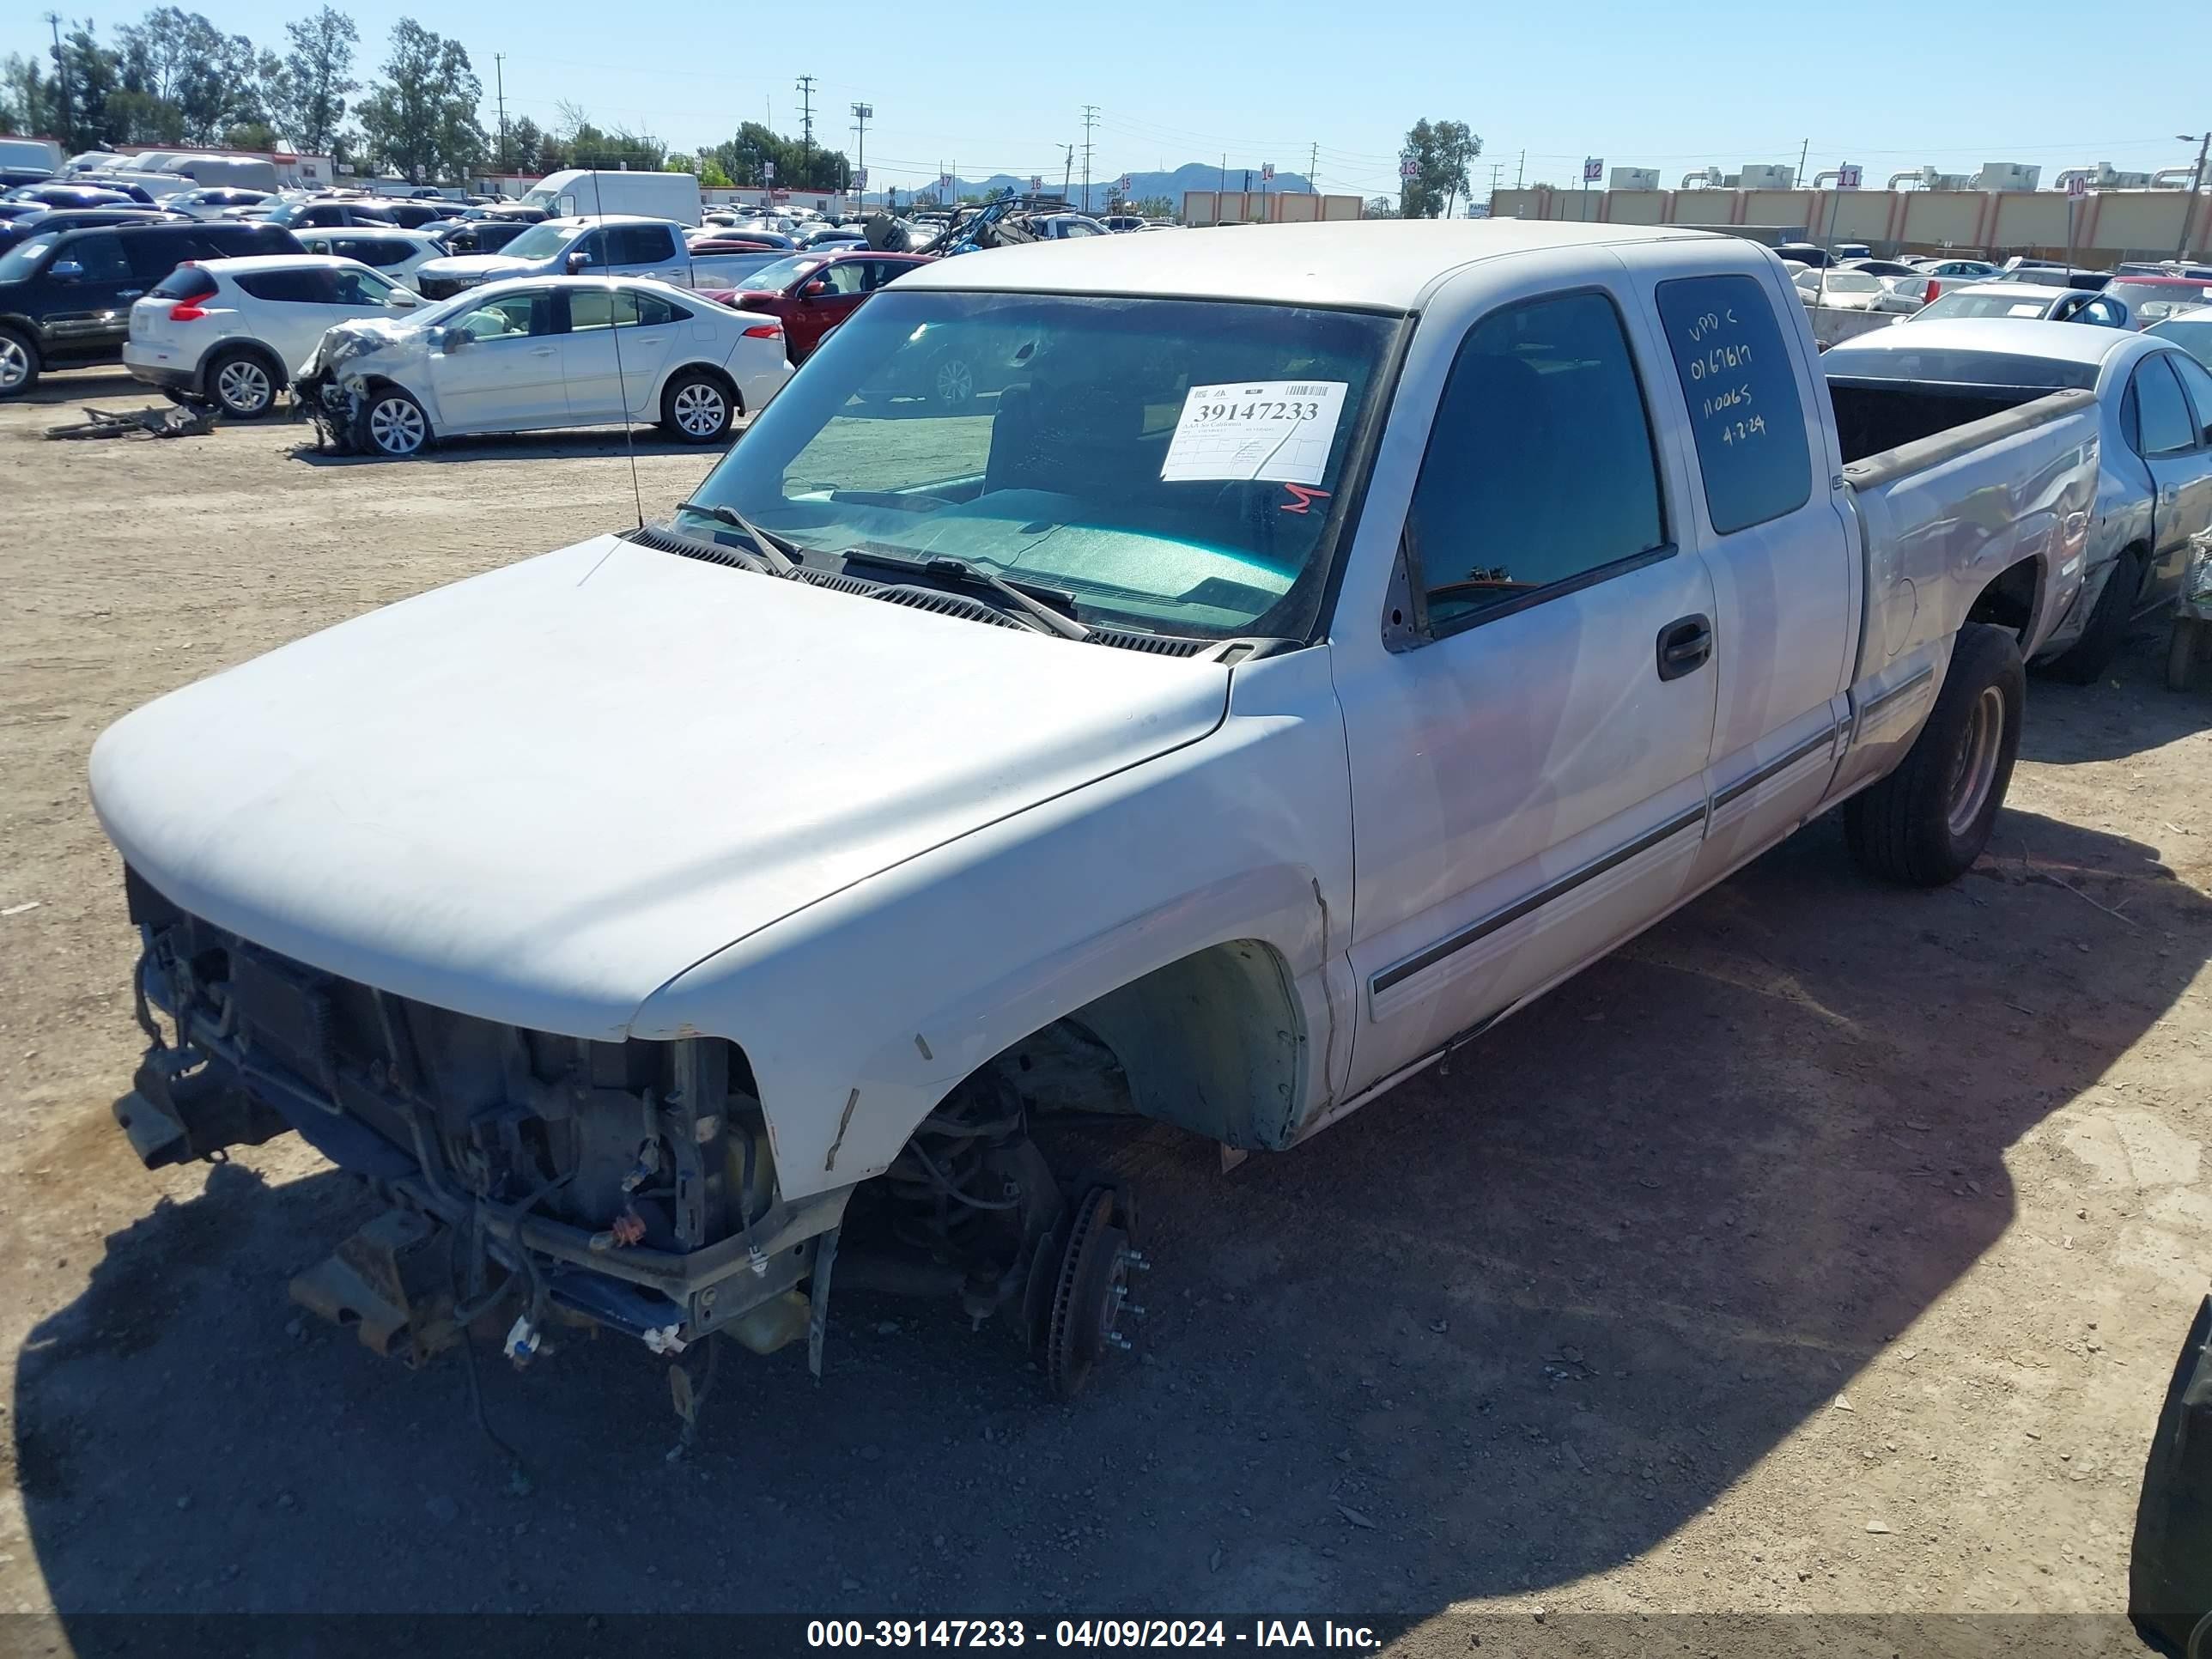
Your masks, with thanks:
<instances>
[{"instance_id":1,"label":"pickup's rear cab window with handwritten yellow-white numbers","mask_svg":"<svg viewBox=\"0 0 2212 1659\"><path fill-rule=\"evenodd\" d=\"M1730 535L1794 513L1812 498L1805 400L1759 279L1659 283L1659 323L1690 414L1712 529Z\"/></svg>"}]
</instances>

